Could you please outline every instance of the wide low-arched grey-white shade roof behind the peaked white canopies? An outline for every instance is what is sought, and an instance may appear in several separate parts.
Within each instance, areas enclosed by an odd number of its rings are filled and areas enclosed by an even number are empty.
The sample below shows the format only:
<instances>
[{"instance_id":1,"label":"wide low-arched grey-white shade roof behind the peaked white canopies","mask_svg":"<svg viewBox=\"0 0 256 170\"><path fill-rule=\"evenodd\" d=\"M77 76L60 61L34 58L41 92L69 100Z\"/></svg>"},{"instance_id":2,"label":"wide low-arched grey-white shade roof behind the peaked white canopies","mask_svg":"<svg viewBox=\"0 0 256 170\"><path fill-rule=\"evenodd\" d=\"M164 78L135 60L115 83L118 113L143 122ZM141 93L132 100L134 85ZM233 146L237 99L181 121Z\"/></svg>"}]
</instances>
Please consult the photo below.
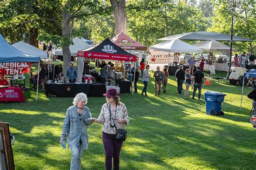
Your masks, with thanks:
<instances>
[{"instance_id":1,"label":"wide low-arched grey-white shade roof behind the peaked white canopies","mask_svg":"<svg viewBox=\"0 0 256 170\"><path fill-rule=\"evenodd\" d=\"M172 35L164 38L160 38L158 40L171 40L171 39L180 39L180 40L208 40L215 39L221 41L230 41L231 35L227 33L219 33L219 32L187 32L181 33L177 35ZM252 42L251 39L246 39L241 36L233 36L234 42Z\"/></svg>"}]
</instances>

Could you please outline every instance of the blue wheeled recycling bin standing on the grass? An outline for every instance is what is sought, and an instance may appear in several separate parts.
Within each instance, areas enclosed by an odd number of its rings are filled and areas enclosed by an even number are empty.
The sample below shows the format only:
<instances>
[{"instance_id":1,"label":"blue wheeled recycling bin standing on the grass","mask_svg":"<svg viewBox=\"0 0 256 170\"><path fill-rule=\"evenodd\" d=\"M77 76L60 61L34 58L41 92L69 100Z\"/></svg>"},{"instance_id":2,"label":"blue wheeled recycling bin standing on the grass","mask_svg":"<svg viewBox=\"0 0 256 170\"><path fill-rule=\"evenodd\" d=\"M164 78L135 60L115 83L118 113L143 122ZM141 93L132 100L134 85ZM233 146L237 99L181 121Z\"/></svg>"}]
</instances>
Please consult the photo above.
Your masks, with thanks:
<instances>
[{"instance_id":1,"label":"blue wheeled recycling bin standing on the grass","mask_svg":"<svg viewBox=\"0 0 256 170\"><path fill-rule=\"evenodd\" d=\"M224 101L224 97L227 94L215 91L207 90L204 93L205 102L206 102L206 114L209 115L224 115L224 112L221 111L221 103Z\"/></svg>"}]
</instances>

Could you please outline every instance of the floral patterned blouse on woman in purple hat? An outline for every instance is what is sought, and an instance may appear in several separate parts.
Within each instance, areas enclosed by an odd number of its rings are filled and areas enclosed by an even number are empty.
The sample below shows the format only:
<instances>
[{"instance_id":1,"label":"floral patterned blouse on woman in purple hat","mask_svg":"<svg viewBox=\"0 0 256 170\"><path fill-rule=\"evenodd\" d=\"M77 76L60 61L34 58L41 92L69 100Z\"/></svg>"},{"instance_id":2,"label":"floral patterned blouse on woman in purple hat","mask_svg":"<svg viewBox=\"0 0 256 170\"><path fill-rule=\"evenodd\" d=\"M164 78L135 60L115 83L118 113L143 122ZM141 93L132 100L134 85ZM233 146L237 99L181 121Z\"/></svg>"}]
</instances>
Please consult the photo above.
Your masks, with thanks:
<instances>
[{"instance_id":1,"label":"floral patterned blouse on woman in purple hat","mask_svg":"<svg viewBox=\"0 0 256 170\"><path fill-rule=\"evenodd\" d=\"M105 103L102 106L102 110L100 111L98 119L102 122L103 125L103 132L107 134L116 134L117 130L116 127L111 127L114 124L116 124L117 129L122 128L122 124L119 124L117 121L119 119L125 119L126 124L123 124L123 126L127 126L129 124L130 118L128 117L128 112L126 109L125 104L120 103L117 105L117 108L111 108L111 121L110 121L110 113L109 113L109 106L110 104Z\"/></svg>"}]
</instances>

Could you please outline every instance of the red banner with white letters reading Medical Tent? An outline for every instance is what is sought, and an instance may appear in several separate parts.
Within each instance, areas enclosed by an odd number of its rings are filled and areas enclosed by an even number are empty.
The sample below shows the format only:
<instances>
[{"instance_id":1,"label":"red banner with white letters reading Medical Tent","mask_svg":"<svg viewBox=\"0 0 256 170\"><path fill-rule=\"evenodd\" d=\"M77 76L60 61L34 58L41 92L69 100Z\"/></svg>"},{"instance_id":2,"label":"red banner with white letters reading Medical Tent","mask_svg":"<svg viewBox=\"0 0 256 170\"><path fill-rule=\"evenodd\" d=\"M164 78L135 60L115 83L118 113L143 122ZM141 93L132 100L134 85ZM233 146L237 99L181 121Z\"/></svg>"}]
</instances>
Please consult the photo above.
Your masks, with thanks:
<instances>
[{"instance_id":1,"label":"red banner with white letters reading Medical Tent","mask_svg":"<svg viewBox=\"0 0 256 170\"><path fill-rule=\"evenodd\" d=\"M30 63L27 62L11 62L0 63L0 74L23 74L30 72Z\"/></svg>"}]
</instances>

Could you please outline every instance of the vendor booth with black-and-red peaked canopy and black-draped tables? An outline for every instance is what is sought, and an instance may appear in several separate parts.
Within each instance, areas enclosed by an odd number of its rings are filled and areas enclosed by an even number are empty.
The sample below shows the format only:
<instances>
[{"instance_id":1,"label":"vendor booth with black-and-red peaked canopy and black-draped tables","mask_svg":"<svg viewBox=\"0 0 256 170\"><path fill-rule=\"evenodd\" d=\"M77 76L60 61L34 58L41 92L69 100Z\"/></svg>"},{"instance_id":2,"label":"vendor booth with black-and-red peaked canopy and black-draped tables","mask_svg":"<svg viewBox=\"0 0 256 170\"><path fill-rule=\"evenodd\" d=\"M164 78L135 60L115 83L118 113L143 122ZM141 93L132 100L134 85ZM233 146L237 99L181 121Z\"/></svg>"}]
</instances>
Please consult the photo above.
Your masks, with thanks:
<instances>
[{"instance_id":1,"label":"vendor booth with black-and-red peaked canopy and black-draped tables","mask_svg":"<svg viewBox=\"0 0 256 170\"><path fill-rule=\"evenodd\" d=\"M136 56L122 50L120 47L105 39L102 43L92 46L89 49L77 52L77 81L76 83L53 82L45 84L46 94L57 97L74 97L77 93L84 92L87 96L103 96L106 88L109 87L101 81L99 73L90 70L88 74L84 72L84 59L103 59L136 62ZM86 62L86 61L85 61ZM89 62L86 62L89 63ZM80 75L79 75L80 74ZM130 81L117 79L116 84L120 88L120 93L130 93ZM117 86L111 86L117 87Z\"/></svg>"}]
</instances>

